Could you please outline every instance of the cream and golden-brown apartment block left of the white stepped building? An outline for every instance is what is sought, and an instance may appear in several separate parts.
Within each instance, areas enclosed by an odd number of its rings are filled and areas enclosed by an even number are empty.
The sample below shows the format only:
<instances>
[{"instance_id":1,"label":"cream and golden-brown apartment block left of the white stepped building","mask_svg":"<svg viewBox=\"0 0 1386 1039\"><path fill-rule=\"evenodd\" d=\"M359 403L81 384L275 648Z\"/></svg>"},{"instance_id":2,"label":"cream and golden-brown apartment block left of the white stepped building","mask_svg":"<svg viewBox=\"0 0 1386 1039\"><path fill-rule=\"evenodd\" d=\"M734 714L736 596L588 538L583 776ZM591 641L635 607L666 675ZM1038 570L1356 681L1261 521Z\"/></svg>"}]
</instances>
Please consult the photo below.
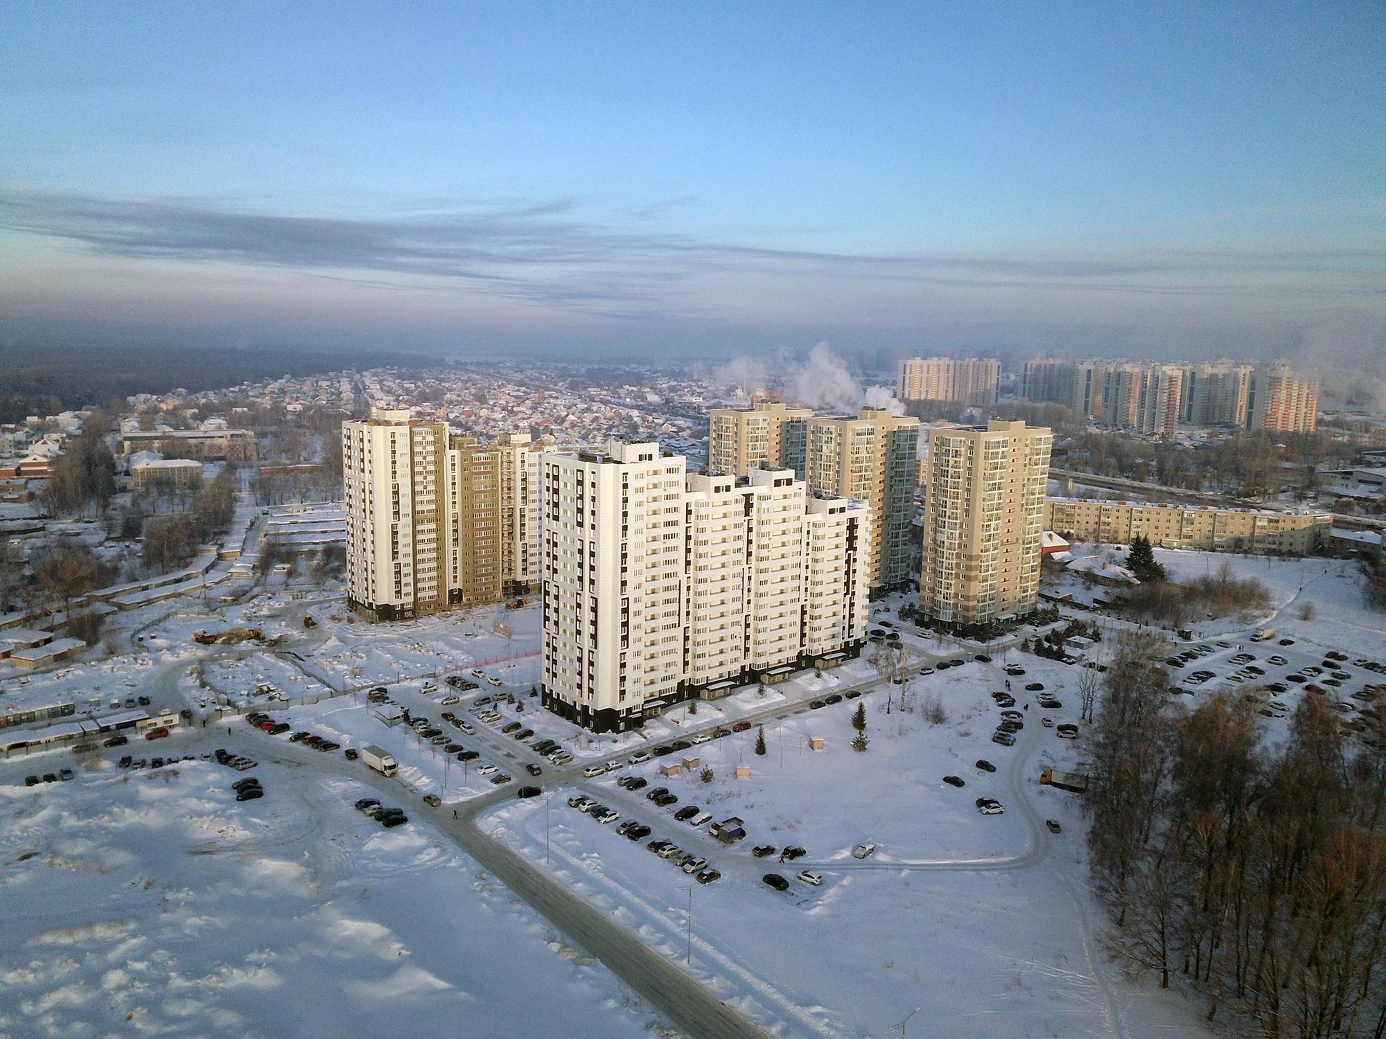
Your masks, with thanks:
<instances>
[{"instance_id":1,"label":"cream and golden-brown apartment block left of the white stepped building","mask_svg":"<svg viewBox=\"0 0 1386 1039\"><path fill-rule=\"evenodd\" d=\"M342 423L348 607L396 621L499 601L523 578L517 560L535 562L538 483L520 485L525 508L503 495L529 447L459 436L407 409Z\"/></svg>"}]
</instances>

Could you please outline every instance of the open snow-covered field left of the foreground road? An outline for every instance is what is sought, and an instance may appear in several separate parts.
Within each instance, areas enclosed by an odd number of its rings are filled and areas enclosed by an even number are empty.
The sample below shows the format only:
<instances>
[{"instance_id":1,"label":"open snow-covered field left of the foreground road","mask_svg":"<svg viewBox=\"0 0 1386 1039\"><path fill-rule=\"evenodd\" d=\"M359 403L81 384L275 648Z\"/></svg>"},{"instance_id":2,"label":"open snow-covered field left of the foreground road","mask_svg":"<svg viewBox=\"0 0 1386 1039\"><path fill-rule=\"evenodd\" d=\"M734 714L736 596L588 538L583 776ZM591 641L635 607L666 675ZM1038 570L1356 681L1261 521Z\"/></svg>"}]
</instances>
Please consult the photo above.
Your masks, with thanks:
<instances>
[{"instance_id":1,"label":"open snow-covered field left of the foreground road","mask_svg":"<svg viewBox=\"0 0 1386 1039\"><path fill-rule=\"evenodd\" d=\"M241 773L202 761L32 790L0 767L0 1035L664 1029L427 824L353 810L349 780L262 765L237 803Z\"/></svg>"}]
</instances>

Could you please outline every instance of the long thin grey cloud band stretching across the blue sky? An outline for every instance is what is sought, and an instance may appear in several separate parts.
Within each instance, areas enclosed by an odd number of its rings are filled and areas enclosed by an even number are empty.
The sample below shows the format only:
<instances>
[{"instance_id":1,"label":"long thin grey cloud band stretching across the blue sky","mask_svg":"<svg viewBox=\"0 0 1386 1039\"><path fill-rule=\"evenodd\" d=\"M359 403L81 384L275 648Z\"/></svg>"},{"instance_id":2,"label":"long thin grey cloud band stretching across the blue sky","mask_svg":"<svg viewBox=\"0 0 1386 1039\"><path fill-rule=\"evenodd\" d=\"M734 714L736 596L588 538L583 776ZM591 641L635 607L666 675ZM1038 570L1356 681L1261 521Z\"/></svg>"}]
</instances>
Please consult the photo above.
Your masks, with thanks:
<instances>
[{"instance_id":1,"label":"long thin grey cloud band stretching across the blue sky","mask_svg":"<svg viewBox=\"0 0 1386 1039\"><path fill-rule=\"evenodd\" d=\"M657 202L644 215L689 202ZM406 283L464 284L549 306L642 319L661 306L679 310L674 298L681 288L708 272L960 288L1382 295L1386 260L1383 251L1304 247L1089 256L780 249L602 224L584 219L572 198L353 217L255 213L207 199L8 191L0 194L0 229L73 242L103 256L230 262L317 276L395 274ZM1264 276L1286 273L1336 277L1332 285L1293 291L1264 283Z\"/></svg>"}]
</instances>

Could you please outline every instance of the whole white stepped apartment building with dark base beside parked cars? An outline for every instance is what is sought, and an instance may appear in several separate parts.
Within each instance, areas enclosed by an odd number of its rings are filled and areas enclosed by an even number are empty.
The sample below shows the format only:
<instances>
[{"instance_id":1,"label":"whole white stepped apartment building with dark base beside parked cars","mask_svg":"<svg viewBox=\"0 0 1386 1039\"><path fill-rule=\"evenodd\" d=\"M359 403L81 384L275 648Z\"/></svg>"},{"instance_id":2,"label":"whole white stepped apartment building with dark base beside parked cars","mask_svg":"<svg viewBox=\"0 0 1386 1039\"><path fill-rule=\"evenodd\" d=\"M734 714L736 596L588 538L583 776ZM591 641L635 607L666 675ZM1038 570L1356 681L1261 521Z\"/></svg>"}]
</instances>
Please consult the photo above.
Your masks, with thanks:
<instances>
[{"instance_id":1,"label":"whole white stepped apartment building with dark base beside parked cars","mask_svg":"<svg viewBox=\"0 0 1386 1039\"><path fill-rule=\"evenodd\" d=\"M620 442L541 460L543 704L597 731L865 640L863 503L685 465Z\"/></svg>"}]
</instances>

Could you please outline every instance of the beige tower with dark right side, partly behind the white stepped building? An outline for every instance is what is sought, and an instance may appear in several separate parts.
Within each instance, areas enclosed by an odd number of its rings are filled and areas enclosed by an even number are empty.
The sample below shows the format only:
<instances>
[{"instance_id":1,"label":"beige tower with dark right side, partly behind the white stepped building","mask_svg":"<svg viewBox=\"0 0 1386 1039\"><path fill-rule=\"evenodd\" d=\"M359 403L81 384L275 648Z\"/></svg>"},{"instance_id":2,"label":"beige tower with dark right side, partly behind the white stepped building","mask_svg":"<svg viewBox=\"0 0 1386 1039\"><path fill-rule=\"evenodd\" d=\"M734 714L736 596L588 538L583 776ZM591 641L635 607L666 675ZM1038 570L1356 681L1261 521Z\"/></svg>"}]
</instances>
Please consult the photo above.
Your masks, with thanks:
<instances>
[{"instance_id":1,"label":"beige tower with dark right side, partly behind the white stepped building","mask_svg":"<svg viewBox=\"0 0 1386 1039\"><path fill-rule=\"evenodd\" d=\"M884 407L808 420L804 479L809 490L870 506L872 593L904 587L911 578L915 518L915 454L919 420Z\"/></svg>"}]
</instances>

